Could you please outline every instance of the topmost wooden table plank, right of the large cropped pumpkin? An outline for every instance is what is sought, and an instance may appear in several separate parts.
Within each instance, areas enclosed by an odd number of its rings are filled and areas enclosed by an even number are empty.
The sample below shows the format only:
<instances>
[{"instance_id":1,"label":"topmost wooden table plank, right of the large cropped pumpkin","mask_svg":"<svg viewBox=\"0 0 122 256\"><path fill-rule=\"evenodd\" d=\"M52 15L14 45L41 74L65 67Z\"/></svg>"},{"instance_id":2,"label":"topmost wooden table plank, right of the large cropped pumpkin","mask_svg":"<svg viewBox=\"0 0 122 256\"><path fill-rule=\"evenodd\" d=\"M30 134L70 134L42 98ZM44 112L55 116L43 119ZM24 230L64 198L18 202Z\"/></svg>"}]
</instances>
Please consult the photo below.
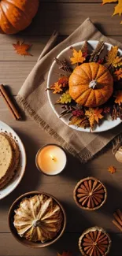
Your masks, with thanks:
<instances>
[{"instance_id":1,"label":"topmost wooden table plank, right of the large cropped pumpkin","mask_svg":"<svg viewBox=\"0 0 122 256\"><path fill-rule=\"evenodd\" d=\"M87 17L91 17L105 35L122 35L119 15L111 17L114 6L100 6L99 3L43 2L31 26L21 33L50 35L57 29L61 35L70 35Z\"/></svg>"}]
</instances>

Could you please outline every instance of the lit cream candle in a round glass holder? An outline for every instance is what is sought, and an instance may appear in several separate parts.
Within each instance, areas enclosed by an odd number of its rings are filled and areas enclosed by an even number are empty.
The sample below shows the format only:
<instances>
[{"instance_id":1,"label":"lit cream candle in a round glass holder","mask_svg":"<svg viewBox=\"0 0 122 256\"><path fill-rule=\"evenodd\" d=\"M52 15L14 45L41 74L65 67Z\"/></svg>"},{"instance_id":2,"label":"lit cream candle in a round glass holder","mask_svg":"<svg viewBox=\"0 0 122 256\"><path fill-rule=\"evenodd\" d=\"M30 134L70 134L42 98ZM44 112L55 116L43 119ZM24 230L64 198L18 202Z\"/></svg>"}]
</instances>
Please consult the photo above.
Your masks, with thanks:
<instances>
[{"instance_id":1,"label":"lit cream candle in a round glass holder","mask_svg":"<svg viewBox=\"0 0 122 256\"><path fill-rule=\"evenodd\" d=\"M65 151L55 144L41 148L35 158L37 168L50 176L61 173L65 169L66 162Z\"/></svg>"}]
</instances>

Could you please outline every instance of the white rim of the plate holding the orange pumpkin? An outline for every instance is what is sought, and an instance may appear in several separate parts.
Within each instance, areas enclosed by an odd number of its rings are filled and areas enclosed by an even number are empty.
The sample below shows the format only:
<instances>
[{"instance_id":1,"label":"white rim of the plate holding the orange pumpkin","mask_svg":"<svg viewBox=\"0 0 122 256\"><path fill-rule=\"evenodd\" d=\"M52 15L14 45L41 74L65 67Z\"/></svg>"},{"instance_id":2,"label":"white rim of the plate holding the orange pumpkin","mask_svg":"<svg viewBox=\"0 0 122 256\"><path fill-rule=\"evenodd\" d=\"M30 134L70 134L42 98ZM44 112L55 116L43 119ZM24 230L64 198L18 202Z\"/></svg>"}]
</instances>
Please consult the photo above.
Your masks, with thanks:
<instances>
[{"instance_id":1,"label":"white rim of the plate holding the orange pumpkin","mask_svg":"<svg viewBox=\"0 0 122 256\"><path fill-rule=\"evenodd\" d=\"M67 52L67 50L70 49L71 46L72 46L72 47L74 47L74 46L81 46L81 45L83 45L83 43L85 43L85 41L81 41L81 42L79 42L79 43L73 43L72 45L70 45L70 46L66 47L64 50L62 50L61 53L58 54L56 58L60 58L62 54L65 54L65 52ZM87 43L89 43L89 44L94 44L94 43L97 44L97 43L98 43L98 40L88 40ZM108 46L108 47L113 46L111 43L105 43L105 45ZM118 51L122 54L122 50L120 50L120 48L118 49ZM47 77L47 86L46 86L47 88L50 88L50 77L51 77L51 75L52 75L52 69L54 68L54 65L55 65L55 64L56 64L56 61L53 61L52 65L50 66L50 70L49 70L48 77ZM54 107L53 103L51 102L50 90L47 90L47 98L48 98L48 100L49 100L49 102L50 102L51 108L54 110L54 113L55 113L55 114L57 115L57 117L59 118L59 117L60 117L60 114L57 113L56 108ZM91 132L91 131L90 131L90 128L86 128L86 129L84 129L84 128L77 128L75 125L68 125L67 121L65 121L65 118L62 118L62 117L61 117L60 119L61 119L61 121L63 121L63 123L65 123L69 128L72 128L72 129L74 129L74 130L76 130L76 131L78 131L78 132ZM109 122L114 122L114 121L109 121ZM117 125L119 125L121 122L122 122L122 121L120 120L120 118L117 118L115 124L113 124L112 127L107 128L107 125L106 125L105 128L103 128L102 130L100 130L100 131L94 130L94 131L92 131L92 132L94 132L94 133L96 132L96 133L97 133L97 132L109 131L109 130L115 128L115 127L116 127ZM102 125L103 125L103 124L102 124ZM100 126L99 126L99 127L100 127Z\"/></svg>"}]
</instances>

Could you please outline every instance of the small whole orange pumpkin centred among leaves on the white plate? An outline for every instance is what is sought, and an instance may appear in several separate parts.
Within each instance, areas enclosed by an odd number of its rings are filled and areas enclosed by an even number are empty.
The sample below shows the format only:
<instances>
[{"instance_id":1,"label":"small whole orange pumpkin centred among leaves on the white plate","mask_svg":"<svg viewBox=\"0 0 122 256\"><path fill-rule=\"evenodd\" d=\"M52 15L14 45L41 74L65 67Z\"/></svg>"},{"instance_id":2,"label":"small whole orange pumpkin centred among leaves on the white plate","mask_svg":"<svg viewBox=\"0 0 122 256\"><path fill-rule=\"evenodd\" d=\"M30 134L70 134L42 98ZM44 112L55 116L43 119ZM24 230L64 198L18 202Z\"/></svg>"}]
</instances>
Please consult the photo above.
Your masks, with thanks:
<instances>
[{"instance_id":1,"label":"small whole orange pumpkin centred among leaves on the white plate","mask_svg":"<svg viewBox=\"0 0 122 256\"><path fill-rule=\"evenodd\" d=\"M80 105L96 107L113 94L113 76L104 65L83 63L69 77L69 94Z\"/></svg>"}]
</instances>

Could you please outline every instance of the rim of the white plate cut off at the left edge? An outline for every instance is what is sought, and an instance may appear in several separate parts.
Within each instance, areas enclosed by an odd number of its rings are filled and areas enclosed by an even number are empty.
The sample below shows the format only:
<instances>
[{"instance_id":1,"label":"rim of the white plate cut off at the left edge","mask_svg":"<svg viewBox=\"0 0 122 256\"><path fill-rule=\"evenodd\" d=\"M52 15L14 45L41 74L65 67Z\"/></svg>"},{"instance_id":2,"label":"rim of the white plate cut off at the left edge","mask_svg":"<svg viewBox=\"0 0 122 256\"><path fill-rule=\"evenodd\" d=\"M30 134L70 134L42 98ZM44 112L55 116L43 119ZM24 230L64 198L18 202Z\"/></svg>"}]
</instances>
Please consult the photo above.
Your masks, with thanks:
<instances>
[{"instance_id":1,"label":"rim of the white plate cut off at the left edge","mask_svg":"<svg viewBox=\"0 0 122 256\"><path fill-rule=\"evenodd\" d=\"M6 124L5 122L2 122L2 121L0 121L0 124L3 124L3 126L5 125L6 126L6 128L8 128L9 130L11 130L11 132L12 132L12 134L13 135L17 135L17 132L15 132L14 130L13 130L13 128L11 128L8 124ZM17 138L19 138L20 139L20 136L19 135L17 135ZM27 156L26 156L26 151L25 151L25 148L24 148L24 143L22 142L22 140L20 139L20 144L21 144L21 147L22 147L22 150L23 150L23 154L24 154L24 166L23 166L23 168L21 167L21 170L20 170L20 176L19 176L19 178L17 179L17 182L14 184L14 186L11 188L11 189L9 189L9 191L8 192L6 192L6 194L5 195L2 195L2 197L0 197L0 200L2 200L3 198L6 198L6 196L7 195L9 195L10 193L12 193L13 192L13 190L20 184L20 181L22 180L22 178L23 178L23 176L24 176L24 172L25 172L25 168L26 168L26 165L27 165ZM20 147L19 147L20 148ZM20 150L21 151L21 150ZM22 155L22 154L21 154ZM16 175L16 173L15 173L15 175ZM12 178L12 180L13 180L13 178ZM10 182L12 182L12 180L10 180L9 181L9 184L10 184ZM8 184L8 185L9 185ZM7 185L6 185L6 187L7 187ZM4 187L3 187L3 189L4 189ZM0 190L1 191L1 190Z\"/></svg>"}]
</instances>

